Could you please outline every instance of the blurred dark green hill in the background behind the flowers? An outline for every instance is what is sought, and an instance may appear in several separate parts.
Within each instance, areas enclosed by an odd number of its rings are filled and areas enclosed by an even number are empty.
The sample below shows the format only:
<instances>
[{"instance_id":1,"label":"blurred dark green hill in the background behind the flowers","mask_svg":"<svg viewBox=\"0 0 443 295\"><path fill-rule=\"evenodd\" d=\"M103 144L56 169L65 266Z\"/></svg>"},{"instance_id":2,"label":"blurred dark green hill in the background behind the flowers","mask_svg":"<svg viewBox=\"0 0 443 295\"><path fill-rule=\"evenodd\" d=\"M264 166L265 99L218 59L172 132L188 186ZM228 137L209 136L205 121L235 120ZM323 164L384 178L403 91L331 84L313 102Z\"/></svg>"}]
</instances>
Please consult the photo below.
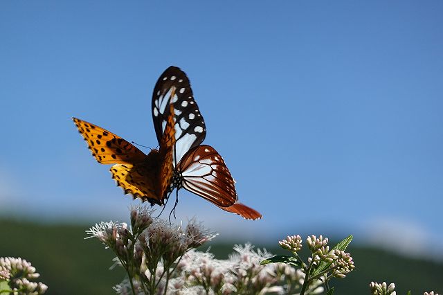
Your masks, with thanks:
<instances>
[{"instance_id":1,"label":"blurred dark green hill in the background behind the flowers","mask_svg":"<svg viewBox=\"0 0 443 295\"><path fill-rule=\"evenodd\" d=\"M84 231L89 227L0 220L0 257L30 261L41 275L39 281L49 287L46 294L114 294L112 286L120 283L125 274L118 267L109 270L114 256L98 240L84 240ZM210 252L217 258L227 258L235 242L221 244L215 239ZM207 246L201 251L206 249ZM285 253L278 247L266 249L275 254ZM408 289L413 295L431 290L443 294L443 262L406 258L374 248L348 249L356 269L343 280L333 280L335 294L369 295L371 280L395 283L399 295L406 294Z\"/></svg>"}]
</instances>

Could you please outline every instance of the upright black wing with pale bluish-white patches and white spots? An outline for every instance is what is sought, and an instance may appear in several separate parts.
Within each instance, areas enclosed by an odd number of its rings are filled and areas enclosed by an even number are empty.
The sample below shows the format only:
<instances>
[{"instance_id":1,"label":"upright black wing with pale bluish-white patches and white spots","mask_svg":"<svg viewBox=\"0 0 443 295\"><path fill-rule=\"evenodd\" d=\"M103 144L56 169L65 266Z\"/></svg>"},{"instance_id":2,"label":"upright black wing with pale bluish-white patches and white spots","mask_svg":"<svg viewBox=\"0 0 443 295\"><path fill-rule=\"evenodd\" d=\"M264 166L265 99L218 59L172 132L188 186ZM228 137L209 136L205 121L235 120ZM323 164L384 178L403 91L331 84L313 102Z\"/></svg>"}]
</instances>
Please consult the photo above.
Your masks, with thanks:
<instances>
[{"instance_id":1,"label":"upright black wing with pale bluish-white patches and white spots","mask_svg":"<svg viewBox=\"0 0 443 295\"><path fill-rule=\"evenodd\" d=\"M175 165L206 136L205 123L192 96L189 79L177 66L170 66L161 74L152 93L152 118L159 144L168 121L170 104L174 106Z\"/></svg>"}]
</instances>

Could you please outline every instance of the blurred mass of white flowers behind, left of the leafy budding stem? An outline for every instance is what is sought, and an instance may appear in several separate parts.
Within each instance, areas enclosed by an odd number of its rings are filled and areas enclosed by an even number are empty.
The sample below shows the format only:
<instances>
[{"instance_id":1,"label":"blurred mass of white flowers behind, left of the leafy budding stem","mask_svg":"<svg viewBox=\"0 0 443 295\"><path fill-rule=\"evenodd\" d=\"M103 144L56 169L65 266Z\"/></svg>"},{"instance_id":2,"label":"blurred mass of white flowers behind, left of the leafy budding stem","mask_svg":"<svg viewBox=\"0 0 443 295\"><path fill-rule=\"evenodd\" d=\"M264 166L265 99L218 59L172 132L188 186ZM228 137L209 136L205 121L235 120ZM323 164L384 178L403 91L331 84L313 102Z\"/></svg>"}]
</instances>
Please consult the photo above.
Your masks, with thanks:
<instances>
[{"instance_id":1,"label":"blurred mass of white flowers behind, left of the leafy budding stem","mask_svg":"<svg viewBox=\"0 0 443 295\"><path fill-rule=\"evenodd\" d=\"M236 245L228 260L215 259L213 254L188 251L174 271L167 294L294 294L300 290L305 274L289 265L260 265L271 255L253 250L251 244ZM158 276L159 274L157 274ZM323 292L320 280L305 294ZM164 280L156 294L163 294ZM129 294L128 282L116 287L119 294Z\"/></svg>"}]
</instances>

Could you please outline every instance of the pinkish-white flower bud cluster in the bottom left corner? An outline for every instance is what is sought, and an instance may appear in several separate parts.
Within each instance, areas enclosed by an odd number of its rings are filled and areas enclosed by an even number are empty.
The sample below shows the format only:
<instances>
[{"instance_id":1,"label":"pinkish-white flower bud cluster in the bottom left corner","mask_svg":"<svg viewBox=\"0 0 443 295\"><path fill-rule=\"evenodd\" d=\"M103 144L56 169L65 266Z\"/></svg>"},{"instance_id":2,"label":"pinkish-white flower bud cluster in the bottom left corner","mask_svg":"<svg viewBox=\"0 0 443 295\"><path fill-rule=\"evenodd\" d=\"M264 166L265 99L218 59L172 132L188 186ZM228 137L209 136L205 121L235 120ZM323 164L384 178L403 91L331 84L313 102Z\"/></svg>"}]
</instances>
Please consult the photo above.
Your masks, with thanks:
<instances>
[{"instance_id":1,"label":"pinkish-white flower bud cluster in the bottom left corner","mask_svg":"<svg viewBox=\"0 0 443 295\"><path fill-rule=\"evenodd\" d=\"M14 294L44 294L48 289L46 285L31 282L38 277L39 274L35 272L35 267L30 262L21 258L0 258L0 281L6 281Z\"/></svg>"}]
</instances>

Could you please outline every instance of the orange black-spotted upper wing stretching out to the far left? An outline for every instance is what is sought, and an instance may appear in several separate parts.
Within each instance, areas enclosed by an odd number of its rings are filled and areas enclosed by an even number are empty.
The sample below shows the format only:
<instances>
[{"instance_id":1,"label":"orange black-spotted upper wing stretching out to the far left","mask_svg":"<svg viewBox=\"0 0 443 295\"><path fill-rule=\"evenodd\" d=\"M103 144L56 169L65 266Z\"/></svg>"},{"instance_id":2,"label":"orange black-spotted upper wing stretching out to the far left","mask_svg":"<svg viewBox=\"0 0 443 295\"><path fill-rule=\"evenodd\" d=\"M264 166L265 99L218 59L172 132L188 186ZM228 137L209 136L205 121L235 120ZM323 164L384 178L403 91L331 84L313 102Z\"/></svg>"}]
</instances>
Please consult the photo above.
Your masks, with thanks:
<instances>
[{"instance_id":1,"label":"orange black-spotted upper wing stretching out to the far left","mask_svg":"<svg viewBox=\"0 0 443 295\"><path fill-rule=\"evenodd\" d=\"M145 153L120 136L84 120L72 119L98 163L130 164L145 160Z\"/></svg>"}]
</instances>

